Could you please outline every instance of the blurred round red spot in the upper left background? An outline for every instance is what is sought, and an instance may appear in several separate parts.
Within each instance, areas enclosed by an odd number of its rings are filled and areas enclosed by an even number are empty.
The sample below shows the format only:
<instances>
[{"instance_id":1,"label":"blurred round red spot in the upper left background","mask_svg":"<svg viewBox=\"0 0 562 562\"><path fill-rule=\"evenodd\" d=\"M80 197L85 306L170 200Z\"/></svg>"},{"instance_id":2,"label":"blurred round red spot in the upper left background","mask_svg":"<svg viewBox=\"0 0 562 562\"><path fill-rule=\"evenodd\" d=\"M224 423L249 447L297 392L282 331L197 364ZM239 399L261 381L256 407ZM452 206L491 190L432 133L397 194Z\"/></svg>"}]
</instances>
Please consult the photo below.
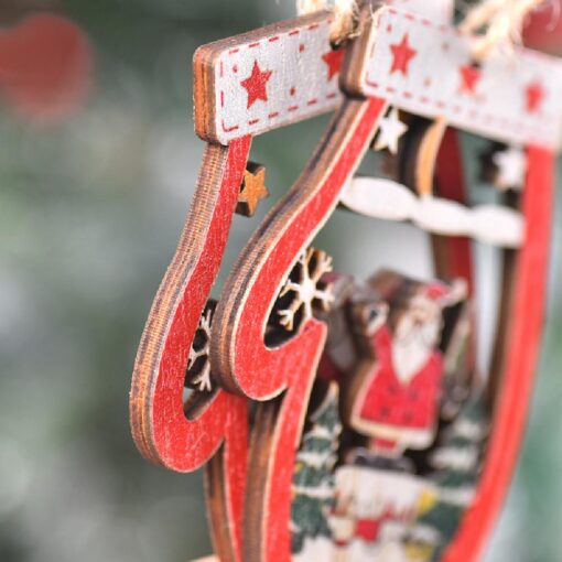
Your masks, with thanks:
<instances>
[{"instance_id":1,"label":"blurred round red spot in the upper left background","mask_svg":"<svg viewBox=\"0 0 562 562\"><path fill-rule=\"evenodd\" d=\"M40 123L68 117L85 100L93 57L71 21L36 14L0 33L0 93L12 109Z\"/></svg>"}]
</instances>

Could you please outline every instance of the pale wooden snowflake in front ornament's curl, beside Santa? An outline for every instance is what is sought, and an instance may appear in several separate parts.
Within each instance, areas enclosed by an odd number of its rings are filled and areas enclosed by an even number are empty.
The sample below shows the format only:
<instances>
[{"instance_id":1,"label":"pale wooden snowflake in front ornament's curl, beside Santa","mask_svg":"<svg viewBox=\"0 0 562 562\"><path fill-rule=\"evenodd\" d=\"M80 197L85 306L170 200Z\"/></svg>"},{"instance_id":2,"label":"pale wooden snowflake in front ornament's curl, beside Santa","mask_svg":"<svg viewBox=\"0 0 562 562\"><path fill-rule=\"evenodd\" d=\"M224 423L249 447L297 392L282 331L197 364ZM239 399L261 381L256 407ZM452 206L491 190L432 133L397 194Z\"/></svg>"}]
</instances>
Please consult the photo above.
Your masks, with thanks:
<instances>
[{"instance_id":1,"label":"pale wooden snowflake in front ornament's curl, beside Santa","mask_svg":"<svg viewBox=\"0 0 562 562\"><path fill-rule=\"evenodd\" d=\"M322 288L321 278L324 273L332 271L332 258L314 248L306 249L299 258L293 271L284 282L280 298L289 293L294 293L285 309L278 311L281 320L279 321L289 332L295 327L295 318L299 311L302 316L299 326L302 326L313 316L313 309L318 306L323 311L329 310L329 304L334 301L331 287ZM296 278L296 280L294 280Z\"/></svg>"}]
</instances>

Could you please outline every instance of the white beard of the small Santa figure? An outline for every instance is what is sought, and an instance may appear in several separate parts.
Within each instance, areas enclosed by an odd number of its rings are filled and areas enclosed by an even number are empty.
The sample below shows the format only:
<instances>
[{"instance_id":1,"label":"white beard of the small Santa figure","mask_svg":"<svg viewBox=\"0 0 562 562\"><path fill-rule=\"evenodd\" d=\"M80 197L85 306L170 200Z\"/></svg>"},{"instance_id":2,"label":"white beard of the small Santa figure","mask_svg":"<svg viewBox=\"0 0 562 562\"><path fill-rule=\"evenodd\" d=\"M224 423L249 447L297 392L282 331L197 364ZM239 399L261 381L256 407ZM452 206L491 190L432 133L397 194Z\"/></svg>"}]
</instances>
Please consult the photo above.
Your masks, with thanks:
<instances>
[{"instance_id":1,"label":"white beard of the small Santa figure","mask_svg":"<svg viewBox=\"0 0 562 562\"><path fill-rule=\"evenodd\" d=\"M437 331L433 326L422 325L412 329L407 337L392 342L392 365L397 378L408 385L425 366L433 353Z\"/></svg>"}]
</instances>

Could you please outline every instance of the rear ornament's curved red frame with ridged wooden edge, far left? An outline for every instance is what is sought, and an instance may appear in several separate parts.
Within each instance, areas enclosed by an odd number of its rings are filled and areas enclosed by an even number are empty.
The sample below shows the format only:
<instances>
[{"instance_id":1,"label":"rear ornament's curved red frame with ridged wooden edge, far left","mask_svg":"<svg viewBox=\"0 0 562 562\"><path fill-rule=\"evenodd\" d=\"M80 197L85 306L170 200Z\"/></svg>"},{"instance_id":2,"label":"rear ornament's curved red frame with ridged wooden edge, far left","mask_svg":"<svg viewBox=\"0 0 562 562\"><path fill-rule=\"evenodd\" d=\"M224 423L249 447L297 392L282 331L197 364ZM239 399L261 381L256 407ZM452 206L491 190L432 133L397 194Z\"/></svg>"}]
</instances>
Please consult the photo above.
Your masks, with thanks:
<instances>
[{"instance_id":1,"label":"rear ornament's curved red frame with ridged wooden edge, far left","mask_svg":"<svg viewBox=\"0 0 562 562\"><path fill-rule=\"evenodd\" d=\"M242 138L228 148L209 145L205 151L182 238L141 338L130 396L132 434L150 461L173 471L194 471L223 444L224 510L230 516L226 525L234 547L225 552L221 541L216 548L226 561L234 560L231 551L238 549L240 536L247 404L218 390L208 395L195 419L187 419L182 393L190 348L226 247L250 143L250 138Z\"/></svg>"}]
</instances>

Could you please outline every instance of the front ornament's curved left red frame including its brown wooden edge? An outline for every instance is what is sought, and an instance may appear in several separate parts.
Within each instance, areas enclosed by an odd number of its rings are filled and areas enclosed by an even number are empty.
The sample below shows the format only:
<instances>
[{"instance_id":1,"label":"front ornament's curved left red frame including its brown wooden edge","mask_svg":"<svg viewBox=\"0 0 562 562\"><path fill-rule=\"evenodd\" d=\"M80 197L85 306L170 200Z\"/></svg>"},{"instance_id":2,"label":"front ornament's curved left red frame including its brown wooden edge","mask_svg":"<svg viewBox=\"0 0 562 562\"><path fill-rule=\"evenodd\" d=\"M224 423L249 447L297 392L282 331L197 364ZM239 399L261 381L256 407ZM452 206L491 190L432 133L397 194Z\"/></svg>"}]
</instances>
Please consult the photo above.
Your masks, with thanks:
<instances>
[{"instance_id":1,"label":"front ornament's curved left red frame including its brown wooden edge","mask_svg":"<svg viewBox=\"0 0 562 562\"><path fill-rule=\"evenodd\" d=\"M379 99L344 104L310 165L242 251L216 311L212 364L221 383L253 400L275 399L260 407L275 412L273 428L257 424L252 436L245 561L290 560L294 454L326 332L310 320L289 342L268 347L266 324L284 278L334 210L385 107Z\"/></svg>"}]
</instances>

